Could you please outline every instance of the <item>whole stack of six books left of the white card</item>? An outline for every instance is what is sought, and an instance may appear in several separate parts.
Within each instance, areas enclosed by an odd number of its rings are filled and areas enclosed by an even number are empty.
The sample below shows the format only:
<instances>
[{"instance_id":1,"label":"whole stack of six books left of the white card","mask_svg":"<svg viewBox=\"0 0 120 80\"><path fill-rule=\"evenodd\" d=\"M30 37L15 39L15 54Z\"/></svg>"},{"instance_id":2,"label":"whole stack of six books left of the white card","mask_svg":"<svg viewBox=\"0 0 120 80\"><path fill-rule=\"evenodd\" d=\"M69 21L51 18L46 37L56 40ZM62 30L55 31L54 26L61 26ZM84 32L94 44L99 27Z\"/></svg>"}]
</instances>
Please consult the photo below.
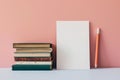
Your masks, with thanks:
<instances>
[{"instance_id":1,"label":"whole stack of six books left of the white card","mask_svg":"<svg viewBox=\"0 0 120 80\"><path fill-rule=\"evenodd\" d=\"M15 64L12 70L52 70L51 43L13 43Z\"/></svg>"}]
</instances>

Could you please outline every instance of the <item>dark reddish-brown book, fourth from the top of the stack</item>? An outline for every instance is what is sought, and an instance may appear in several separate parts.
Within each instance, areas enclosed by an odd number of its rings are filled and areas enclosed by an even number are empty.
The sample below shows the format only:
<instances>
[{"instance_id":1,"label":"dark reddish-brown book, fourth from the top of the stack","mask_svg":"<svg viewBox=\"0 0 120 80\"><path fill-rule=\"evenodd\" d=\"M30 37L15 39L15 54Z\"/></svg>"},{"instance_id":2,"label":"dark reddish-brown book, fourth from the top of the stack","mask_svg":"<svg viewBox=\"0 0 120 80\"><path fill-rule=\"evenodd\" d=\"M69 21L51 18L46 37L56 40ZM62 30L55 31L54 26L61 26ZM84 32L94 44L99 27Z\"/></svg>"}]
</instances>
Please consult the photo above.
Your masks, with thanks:
<instances>
[{"instance_id":1,"label":"dark reddish-brown book, fourth from the top of the stack","mask_svg":"<svg viewBox=\"0 0 120 80\"><path fill-rule=\"evenodd\" d=\"M51 57L15 57L15 61L51 61Z\"/></svg>"}]
</instances>

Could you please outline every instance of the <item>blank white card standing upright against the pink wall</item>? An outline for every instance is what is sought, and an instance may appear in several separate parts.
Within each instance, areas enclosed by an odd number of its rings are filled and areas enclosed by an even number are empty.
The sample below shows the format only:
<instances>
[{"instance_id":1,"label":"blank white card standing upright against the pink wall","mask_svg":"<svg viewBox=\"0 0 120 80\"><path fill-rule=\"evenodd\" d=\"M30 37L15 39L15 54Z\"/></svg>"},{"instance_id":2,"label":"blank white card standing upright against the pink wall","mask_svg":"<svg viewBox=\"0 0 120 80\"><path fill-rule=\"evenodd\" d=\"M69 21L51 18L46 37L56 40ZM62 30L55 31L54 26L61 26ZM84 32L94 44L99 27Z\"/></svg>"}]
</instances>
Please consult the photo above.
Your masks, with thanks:
<instances>
[{"instance_id":1,"label":"blank white card standing upright against the pink wall","mask_svg":"<svg viewBox=\"0 0 120 80\"><path fill-rule=\"evenodd\" d=\"M89 21L56 21L57 69L90 69Z\"/></svg>"}]
</instances>

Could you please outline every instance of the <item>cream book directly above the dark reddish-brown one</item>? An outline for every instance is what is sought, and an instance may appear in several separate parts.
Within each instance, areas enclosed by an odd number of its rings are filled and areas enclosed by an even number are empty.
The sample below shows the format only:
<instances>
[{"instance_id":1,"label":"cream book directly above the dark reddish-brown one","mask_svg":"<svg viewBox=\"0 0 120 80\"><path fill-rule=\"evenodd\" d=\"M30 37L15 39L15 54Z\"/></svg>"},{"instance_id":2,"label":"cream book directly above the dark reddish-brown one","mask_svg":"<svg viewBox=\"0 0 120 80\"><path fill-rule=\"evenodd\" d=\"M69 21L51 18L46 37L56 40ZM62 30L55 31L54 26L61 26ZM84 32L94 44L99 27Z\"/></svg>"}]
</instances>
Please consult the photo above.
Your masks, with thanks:
<instances>
[{"instance_id":1,"label":"cream book directly above the dark reddish-brown one","mask_svg":"<svg viewBox=\"0 0 120 80\"><path fill-rule=\"evenodd\" d=\"M27 54L17 54L15 53L15 57L51 57L52 53L27 53Z\"/></svg>"}]
</instances>

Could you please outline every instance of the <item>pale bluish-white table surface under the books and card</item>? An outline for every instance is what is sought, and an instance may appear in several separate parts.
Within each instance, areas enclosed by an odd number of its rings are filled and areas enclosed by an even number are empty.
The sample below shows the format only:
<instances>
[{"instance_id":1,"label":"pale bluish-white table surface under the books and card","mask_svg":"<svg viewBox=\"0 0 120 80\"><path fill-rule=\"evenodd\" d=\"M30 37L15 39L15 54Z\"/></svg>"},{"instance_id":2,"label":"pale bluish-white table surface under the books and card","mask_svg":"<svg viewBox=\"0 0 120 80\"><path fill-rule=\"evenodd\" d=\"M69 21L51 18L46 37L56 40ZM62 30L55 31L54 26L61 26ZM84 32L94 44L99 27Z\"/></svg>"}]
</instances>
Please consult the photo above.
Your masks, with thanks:
<instances>
[{"instance_id":1,"label":"pale bluish-white table surface under the books and card","mask_svg":"<svg viewBox=\"0 0 120 80\"><path fill-rule=\"evenodd\" d=\"M12 71L11 68L0 68L0 80L120 80L120 68L52 71Z\"/></svg>"}]
</instances>

